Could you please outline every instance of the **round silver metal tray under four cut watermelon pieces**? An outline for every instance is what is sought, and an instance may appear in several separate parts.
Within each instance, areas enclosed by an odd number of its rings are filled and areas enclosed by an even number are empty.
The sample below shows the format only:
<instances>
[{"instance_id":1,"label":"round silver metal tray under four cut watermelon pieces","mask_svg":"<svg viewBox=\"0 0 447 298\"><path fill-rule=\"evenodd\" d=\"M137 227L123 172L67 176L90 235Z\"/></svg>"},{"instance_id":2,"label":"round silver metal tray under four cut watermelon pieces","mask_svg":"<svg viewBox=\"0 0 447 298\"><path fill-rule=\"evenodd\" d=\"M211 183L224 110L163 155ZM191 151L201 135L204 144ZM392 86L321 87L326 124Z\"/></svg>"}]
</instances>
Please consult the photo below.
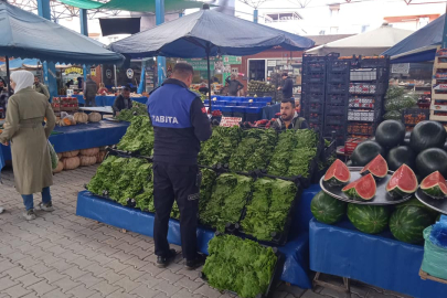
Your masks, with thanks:
<instances>
[{"instance_id":1,"label":"round silver metal tray under four cut watermelon pieces","mask_svg":"<svg viewBox=\"0 0 447 298\"><path fill-rule=\"evenodd\" d=\"M362 170L362 168L358 168L358 167L349 168L349 171L351 172L350 182L353 182L362 177L360 174L361 170ZM380 181L375 181L376 192L375 192L374 198L369 201L359 201L359 200L353 200L353 199L348 198L348 195L345 195L344 192L341 191L348 183L344 185L341 185L341 187L331 187L331 185L329 185L329 183L323 181L324 177L321 177L320 187L323 192L326 192L330 196L336 198L343 202L348 202L348 203L352 203L352 204L361 204L361 205L394 205L394 204L398 204L398 203L408 201L409 199L412 199L412 194L395 199L387 193L386 184L389 183L391 175L394 172L389 171L389 174L385 178L381 179Z\"/></svg>"}]
</instances>

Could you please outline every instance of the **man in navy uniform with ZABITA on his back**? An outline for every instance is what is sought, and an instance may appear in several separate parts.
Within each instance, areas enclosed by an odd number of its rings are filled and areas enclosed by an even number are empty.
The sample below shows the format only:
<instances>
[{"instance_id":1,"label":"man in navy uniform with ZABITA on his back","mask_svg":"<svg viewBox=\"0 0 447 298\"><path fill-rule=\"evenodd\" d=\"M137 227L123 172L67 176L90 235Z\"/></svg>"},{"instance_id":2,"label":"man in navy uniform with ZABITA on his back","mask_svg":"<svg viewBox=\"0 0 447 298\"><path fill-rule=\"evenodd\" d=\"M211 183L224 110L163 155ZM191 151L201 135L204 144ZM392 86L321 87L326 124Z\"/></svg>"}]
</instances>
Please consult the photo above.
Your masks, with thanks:
<instances>
[{"instance_id":1,"label":"man in navy uniform with ZABITA on his back","mask_svg":"<svg viewBox=\"0 0 447 298\"><path fill-rule=\"evenodd\" d=\"M151 93L148 113L153 125L153 240L157 266L166 267L177 255L169 248L168 224L172 204L180 210L180 233L185 267L204 263L196 252L198 211L202 173L198 168L200 142L211 137L211 124L200 97L189 91L194 70L174 66L172 77Z\"/></svg>"}]
</instances>

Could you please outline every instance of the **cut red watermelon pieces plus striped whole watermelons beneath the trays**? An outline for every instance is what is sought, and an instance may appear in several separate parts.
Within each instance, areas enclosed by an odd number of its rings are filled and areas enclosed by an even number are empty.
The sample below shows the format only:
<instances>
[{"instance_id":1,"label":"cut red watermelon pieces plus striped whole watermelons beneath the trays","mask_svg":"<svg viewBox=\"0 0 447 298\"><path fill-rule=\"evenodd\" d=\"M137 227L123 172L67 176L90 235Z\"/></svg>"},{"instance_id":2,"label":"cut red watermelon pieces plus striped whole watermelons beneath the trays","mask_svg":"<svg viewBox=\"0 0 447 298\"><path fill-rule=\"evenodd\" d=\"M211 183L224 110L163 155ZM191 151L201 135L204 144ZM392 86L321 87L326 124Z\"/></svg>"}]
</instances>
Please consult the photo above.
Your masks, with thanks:
<instances>
[{"instance_id":1,"label":"cut red watermelon pieces plus striped whole watermelons beneath the trays","mask_svg":"<svg viewBox=\"0 0 447 298\"><path fill-rule=\"evenodd\" d=\"M328 169L323 180L331 185L345 185L342 191L353 200L369 201L375 195L375 181L387 172L385 159L377 155L362 170L363 177L350 182L350 171L340 160ZM447 184L439 171L424 179L422 190L433 198L444 199ZM418 184L415 173L405 163L391 177L386 191L392 196L403 196L416 191ZM355 228L368 234L377 234L390 228L393 236L406 243L419 243L424 240L424 230L434 224L437 212L432 211L413 198L395 206L353 204L339 201L324 192L319 192L311 202L313 216L322 223L336 224L348 215Z\"/></svg>"}]
</instances>

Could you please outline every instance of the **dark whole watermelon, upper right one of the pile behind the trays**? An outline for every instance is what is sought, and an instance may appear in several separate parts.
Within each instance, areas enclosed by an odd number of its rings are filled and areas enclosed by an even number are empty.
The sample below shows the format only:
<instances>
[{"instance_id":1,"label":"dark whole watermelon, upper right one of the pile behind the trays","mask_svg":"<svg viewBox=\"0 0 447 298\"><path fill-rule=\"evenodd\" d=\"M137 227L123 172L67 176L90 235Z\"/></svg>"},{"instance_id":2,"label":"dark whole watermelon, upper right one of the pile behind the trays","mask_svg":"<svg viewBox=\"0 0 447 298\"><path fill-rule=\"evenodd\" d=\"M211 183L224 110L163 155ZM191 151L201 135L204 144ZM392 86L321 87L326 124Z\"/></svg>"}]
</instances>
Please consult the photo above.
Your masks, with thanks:
<instances>
[{"instance_id":1,"label":"dark whole watermelon, upper right one of the pile behind the trays","mask_svg":"<svg viewBox=\"0 0 447 298\"><path fill-rule=\"evenodd\" d=\"M409 147L417 153L428 148L443 148L446 138L446 129L440 123L422 121L412 131Z\"/></svg>"}]
</instances>

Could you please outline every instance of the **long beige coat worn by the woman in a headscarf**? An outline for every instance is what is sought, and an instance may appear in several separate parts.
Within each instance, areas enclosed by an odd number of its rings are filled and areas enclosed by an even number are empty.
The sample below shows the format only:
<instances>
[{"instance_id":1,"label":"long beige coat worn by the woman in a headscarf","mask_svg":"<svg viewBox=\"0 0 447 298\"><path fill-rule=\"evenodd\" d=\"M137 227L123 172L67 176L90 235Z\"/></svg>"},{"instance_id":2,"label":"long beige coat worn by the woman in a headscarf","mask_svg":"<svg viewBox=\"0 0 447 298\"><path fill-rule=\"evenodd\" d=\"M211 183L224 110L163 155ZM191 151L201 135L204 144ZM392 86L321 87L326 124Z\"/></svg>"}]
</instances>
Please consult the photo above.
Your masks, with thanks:
<instances>
[{"instance_id":1,"label":"long beige coat worn by the woman in a headscarf","mask_svg":"<svg viewBox=\"0 0 447 298\"><path fill-rule=\"evenodd\" d=\"M46 117L46 127L42 123ZM7 119L0 142L11 145L15 189L20 194L41 192L53 184L47 139L55 116L45 95L32 87L9 98Z\"/></svg>"}]
</instances>

